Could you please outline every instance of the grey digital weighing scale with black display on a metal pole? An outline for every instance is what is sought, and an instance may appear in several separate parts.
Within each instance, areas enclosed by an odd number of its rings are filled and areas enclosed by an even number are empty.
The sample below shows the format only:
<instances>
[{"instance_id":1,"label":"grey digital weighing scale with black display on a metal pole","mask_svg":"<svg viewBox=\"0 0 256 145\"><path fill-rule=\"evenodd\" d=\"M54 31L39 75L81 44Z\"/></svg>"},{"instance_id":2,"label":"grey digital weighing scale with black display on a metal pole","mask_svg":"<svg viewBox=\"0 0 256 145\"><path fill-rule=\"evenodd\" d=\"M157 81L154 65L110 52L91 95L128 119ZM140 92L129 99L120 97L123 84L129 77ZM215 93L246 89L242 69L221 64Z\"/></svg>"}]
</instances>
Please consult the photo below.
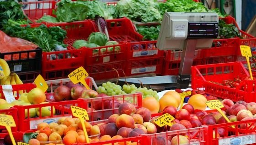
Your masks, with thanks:
<instances>
[{"instance_id":1,"label":"grey digital weighing scale with black display on a metal pole","mask_svg":"<svg viewBox=\"0 0 256 145\"><path fill-rule=\"evenodd\" d=\"M196 49L211 48L218 37L219 15L215 12L166 12L156 46L159 50L182 50L177 89L189 85Z\"/></svg>"}]
</instances>

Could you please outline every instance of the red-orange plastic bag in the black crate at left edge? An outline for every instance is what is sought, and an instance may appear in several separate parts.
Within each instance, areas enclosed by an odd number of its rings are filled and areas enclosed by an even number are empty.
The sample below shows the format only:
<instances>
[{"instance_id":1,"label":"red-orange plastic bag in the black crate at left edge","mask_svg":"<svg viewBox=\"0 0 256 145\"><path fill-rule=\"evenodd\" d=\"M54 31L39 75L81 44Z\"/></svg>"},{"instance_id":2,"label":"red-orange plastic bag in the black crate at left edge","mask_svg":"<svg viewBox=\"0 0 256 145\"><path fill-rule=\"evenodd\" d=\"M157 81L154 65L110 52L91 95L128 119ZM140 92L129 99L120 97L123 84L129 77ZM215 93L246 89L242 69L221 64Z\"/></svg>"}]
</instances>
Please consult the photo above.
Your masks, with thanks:
<instances>
[{"instance_id":1,"label":"red-orange plastic bag in the black crate at left edge","mask_svg":"<svg viewBox=\"0 0 256 145\"><path fill-rule=\"evenodd\" d=\"M35 50L37 47L30 41L10 37L0 30L0 53ZM35 55L36 53L29 53L29 58L34 58ZM11 58L12 60L28 59L27 53L21 53L21 58L19 58L19 54L14 54L12 57L11 55L5 55L4 59L11 60Z\"/></svg>"}]
</instances>

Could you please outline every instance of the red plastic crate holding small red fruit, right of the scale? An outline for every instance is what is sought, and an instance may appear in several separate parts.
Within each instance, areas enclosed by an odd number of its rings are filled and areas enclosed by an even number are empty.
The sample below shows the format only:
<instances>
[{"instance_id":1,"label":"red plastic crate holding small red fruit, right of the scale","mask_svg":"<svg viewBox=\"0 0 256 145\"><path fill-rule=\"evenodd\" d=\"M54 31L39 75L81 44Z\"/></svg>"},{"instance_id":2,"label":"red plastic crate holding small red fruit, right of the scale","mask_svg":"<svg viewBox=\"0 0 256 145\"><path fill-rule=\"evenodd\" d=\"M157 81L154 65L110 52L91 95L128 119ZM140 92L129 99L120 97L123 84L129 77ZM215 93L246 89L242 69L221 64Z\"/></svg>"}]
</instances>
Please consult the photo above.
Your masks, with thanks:
<instances>
[{"instance_id":1,"label":"red plastic crate holding small red fruit, right of the scale","mask_svg":"<svg viewBox=\"0 0 256 145\"><path fill-rule=\"evenodd\" d=\"M238 76L250 76L241 62L192 66L191 74L192 89L204 90L208 95L214 95L222 99L227 98L234 102L239 100L245 102L256 101L255 80L244 80L235 89L209 82L222 83L223 80L234 80ZM247 86L245 90L241 90L243 85Z\"/></svg>"}]
</instances>

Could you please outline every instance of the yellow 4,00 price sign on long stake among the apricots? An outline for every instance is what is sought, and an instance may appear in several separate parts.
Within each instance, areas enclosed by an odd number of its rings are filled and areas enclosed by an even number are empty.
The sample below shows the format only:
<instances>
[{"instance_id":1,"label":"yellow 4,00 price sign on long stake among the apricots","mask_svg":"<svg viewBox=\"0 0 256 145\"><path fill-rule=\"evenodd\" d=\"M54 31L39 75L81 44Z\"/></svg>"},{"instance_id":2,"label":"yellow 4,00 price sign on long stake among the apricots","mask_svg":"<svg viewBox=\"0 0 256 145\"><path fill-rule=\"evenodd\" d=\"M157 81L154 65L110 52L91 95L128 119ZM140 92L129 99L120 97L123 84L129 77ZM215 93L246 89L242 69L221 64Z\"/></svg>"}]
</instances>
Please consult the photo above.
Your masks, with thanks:
<instances>
[{"instance_id":1,"label":"yellow 4,00 price sign on long stake among the apricots","mask_svg":"<svg viewBox=\"0 0 256 145\"><path fill-rule=\"evenodd\" d=\"M87 111L83 108L73 106L73 105L71 105L70 108L71 108L71 111L72 111L72 115L80 119L80 121L82 123L84 133L85 133L86 143L89 143L89 138L88 138L88 135L87 135L87 131L86 131L86 128L85 128L85 122L84 122L84 120L89 120Z\"/></svg>"}]
</instances>

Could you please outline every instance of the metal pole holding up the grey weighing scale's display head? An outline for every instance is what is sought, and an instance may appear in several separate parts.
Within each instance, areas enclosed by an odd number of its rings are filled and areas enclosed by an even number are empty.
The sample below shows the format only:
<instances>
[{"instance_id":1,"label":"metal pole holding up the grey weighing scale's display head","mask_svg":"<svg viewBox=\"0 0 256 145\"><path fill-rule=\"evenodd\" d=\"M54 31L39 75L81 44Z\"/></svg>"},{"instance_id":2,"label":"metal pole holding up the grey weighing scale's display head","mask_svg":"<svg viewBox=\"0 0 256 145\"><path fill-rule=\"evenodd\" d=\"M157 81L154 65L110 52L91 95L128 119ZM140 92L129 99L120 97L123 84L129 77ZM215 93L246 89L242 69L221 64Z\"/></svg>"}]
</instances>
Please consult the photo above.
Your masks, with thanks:
<instances>
[{"instance_id":1,"label":"metal pole holding up the grey weighing scale's display head","mask_svg":"<svg viewBox=\"0 0 256 145\"><path fill-rule=\"evenodd\" d=\"M179 75L177 75L177 89L188 88L191 75L191 66L193 65L194 54L196 51L196 44L196 39L184 40L180 70Z\"/></svg>"}]
</instances>

